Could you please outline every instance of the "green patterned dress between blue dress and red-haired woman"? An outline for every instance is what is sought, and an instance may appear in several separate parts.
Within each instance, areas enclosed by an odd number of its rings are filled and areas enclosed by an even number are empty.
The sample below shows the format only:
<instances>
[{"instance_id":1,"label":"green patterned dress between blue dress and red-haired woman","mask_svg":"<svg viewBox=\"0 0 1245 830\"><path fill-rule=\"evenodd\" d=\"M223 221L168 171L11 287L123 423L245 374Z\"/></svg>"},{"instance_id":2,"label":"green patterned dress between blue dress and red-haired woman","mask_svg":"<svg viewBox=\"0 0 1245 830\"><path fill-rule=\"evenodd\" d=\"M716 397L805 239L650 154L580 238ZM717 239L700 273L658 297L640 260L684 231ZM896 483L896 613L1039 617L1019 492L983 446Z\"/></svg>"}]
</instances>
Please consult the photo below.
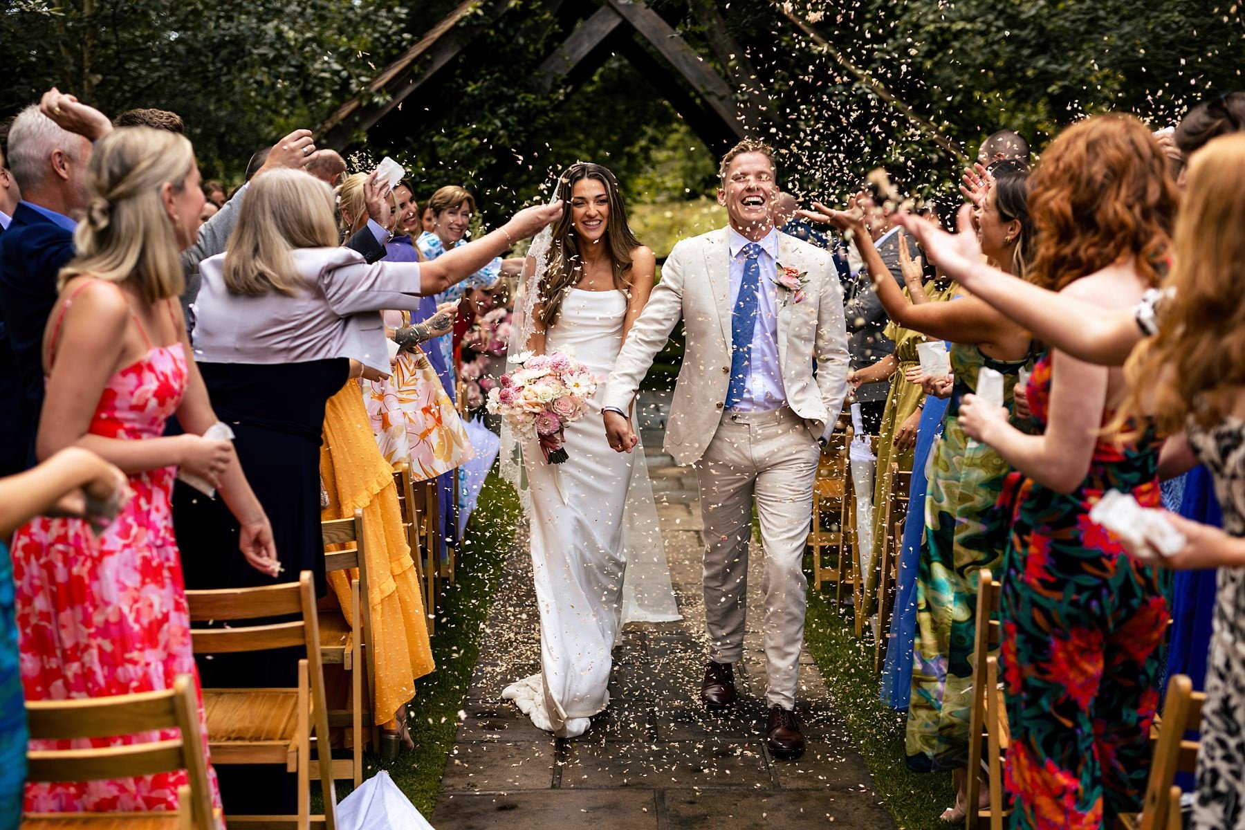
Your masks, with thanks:
<instances>
[{"instance_id":1,"label":"green patterned dress between blue dress and red-haired woman","mask_svg":"<svg viewBox=\"0 0 1245 830\"><path fill-rule=\"evenodd\" d=\"M967 764L977 572L984 567L998 572L1003 554L1003 540L987 534L986 519L1011 468L986 444L970 445L959 422L960 401L976 391L977 372L989 366L1003 375L1010 407L1016 376L1027 362L986 357L976 345L951 346L955 388L934 448L916 571L916 643L905 744L908 765L918 772Z\"/></svg>"}]
</instances>

